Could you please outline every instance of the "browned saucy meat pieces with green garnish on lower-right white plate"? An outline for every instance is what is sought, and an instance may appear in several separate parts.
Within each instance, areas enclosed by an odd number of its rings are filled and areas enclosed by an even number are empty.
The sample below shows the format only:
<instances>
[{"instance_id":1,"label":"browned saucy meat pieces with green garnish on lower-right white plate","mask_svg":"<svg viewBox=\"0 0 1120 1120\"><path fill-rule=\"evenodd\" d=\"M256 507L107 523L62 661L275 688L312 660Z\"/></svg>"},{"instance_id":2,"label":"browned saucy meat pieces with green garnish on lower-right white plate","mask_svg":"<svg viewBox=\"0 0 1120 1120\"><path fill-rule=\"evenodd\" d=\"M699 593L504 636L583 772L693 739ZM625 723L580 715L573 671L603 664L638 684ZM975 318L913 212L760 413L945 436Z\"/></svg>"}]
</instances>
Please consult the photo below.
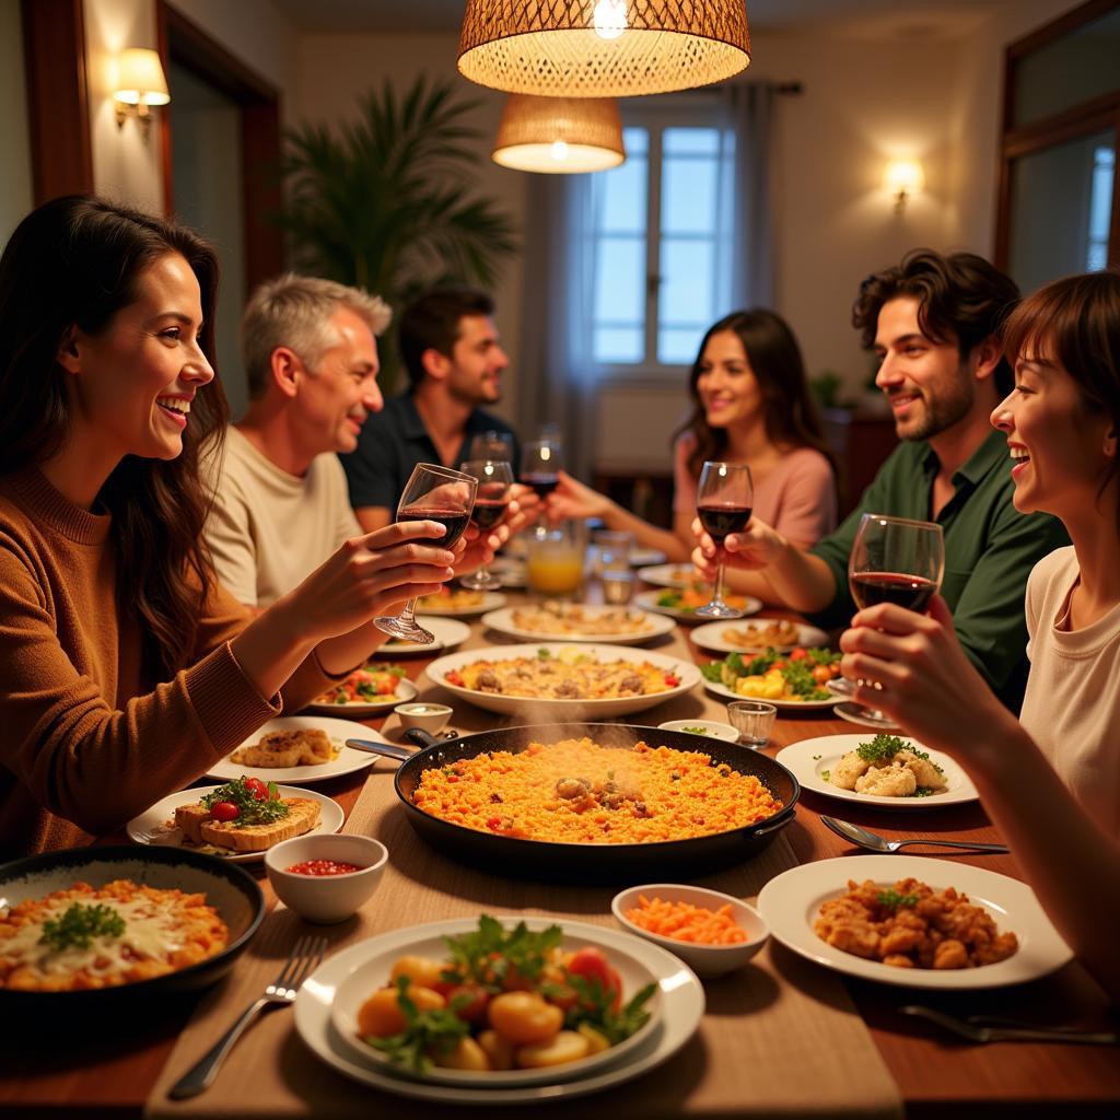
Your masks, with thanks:
<instances>
[{"instance_id":1,"label":"browned saucy meat pieces with green garnish on lower-right white plate","mask_svg":"<svg viewBox=\"0 0 1120 1120\"><path fill-rule=\"evenodd\" d=\"M1019 948L968 895L953 887L935 892L917 879L887 888L849 879L847 894L821 905L813 932L846 953L904 969L978 968Z\"/></svg>"}]
</instances>

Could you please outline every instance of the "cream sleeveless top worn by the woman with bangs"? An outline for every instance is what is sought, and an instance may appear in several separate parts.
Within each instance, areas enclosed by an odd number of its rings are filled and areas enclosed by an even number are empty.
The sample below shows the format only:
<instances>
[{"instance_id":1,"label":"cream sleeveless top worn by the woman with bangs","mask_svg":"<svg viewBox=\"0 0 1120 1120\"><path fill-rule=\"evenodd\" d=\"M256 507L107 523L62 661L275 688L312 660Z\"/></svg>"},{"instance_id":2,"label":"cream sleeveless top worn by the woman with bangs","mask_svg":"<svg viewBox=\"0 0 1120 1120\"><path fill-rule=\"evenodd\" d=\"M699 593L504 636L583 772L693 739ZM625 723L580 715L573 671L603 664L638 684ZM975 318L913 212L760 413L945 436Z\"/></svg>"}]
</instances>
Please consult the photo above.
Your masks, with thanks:
<instances>
[{"instance_id":1,"label":"cream sleeveless top worn by the woman with bangs","mask_svg":"<svg viewBox=\"0 0 1120 1120\"><path fill-rule=\"evenodd\" d=\"M1066 629L1079 576L1072 548L1030 573L1030 678L1019 719L1085 812L1120 838L1120 605Z\"/></svg>"}]
</instances>

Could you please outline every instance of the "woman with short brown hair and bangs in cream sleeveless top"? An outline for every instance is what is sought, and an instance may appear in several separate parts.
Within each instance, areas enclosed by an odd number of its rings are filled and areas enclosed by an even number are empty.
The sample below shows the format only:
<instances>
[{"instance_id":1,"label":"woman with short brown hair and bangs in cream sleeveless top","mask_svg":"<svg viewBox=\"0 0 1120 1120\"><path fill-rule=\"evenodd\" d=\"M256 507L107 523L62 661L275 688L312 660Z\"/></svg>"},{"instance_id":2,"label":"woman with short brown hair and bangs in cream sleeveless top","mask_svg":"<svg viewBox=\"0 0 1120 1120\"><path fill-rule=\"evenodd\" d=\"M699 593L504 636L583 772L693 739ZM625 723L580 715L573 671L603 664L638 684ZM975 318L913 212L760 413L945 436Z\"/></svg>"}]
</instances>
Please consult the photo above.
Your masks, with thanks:
<instances>
[{"instance_id":1,"label":"woman with short brown hair and bangs in cream sleeveless top","mask_svg":"<svg viewBox=\"0 0 1120 1120\"><path fill-rule=\"evenodd\" d=\"M1048 284L1004 342L1015 507L1073 541L1027 584L1030 678L1016 720L965 659L942 599L880 605L841 638L856 699L968 767L1026 878L1086 968L1120 1001L1120 274ZM980 731L981 734L977 734Z\"/></svg>"}]
</instances>

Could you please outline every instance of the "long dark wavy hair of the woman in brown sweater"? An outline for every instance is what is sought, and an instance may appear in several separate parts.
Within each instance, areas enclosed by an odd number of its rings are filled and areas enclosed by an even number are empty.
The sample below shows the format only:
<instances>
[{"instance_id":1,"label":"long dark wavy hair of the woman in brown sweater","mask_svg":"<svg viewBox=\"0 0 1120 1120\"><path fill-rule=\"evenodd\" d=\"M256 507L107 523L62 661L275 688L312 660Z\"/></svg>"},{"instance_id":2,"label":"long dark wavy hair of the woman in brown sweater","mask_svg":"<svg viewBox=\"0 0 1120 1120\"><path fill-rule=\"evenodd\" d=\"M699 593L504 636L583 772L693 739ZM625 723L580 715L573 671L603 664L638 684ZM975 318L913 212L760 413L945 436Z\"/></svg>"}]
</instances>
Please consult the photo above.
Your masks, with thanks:
<instances>
[{"instance_id":1,"label":"long dark wavy hair of the woman in brown sweater","mask_svg":"<svg viewBox=\"0 0 1120 1120\"><path fill-rule=\"evenodd\" d=\"M0 475L45 461L69 436L65 373L56 361L66 333L105 330L136 300L141 273L171 252L198 280L199 346L214 365L217 258L199 236L76 195L44 204L17 226L0 256ZM215 379L195 398L178 457L127 456L99 494L113 515L118 594L167 675L185 668L214 582L202 543L208 500L198 449L221 438L227 419Z\"/></svg>"}]
</instances>

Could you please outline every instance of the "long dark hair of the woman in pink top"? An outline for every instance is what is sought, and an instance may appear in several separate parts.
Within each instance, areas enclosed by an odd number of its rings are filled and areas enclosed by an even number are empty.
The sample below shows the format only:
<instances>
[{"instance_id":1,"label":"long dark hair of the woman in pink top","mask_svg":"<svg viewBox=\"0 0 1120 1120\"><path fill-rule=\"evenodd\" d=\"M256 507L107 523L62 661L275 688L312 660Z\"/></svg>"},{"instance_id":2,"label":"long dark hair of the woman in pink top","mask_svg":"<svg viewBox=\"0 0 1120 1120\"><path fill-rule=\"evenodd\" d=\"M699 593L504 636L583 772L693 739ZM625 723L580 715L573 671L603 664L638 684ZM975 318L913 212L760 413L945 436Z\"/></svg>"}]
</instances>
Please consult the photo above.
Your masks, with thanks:
<instances>
[{"instance_id":1,"label":"long dark hair of the woman in pink top","mask_svg":"<svg viewBox=\"0 0 1120 1120\"><path fill-rule=\"evenodd\" d=\"M692 363L689 377L692 413L673 432L674 441L687 432L696 437L696 445L688 459L692 477L700 477L700 470L709 459L719 460L727 455L727 432L708 423L697 388L703 352L712 336L725 330L732 332L743 343L762 393L763 419L769 441L777 447L811 447L820 451L829 460L834 475L836 457L824 438L820 413L809 392L797 339L793 337L785 319L765 308L756 308L752 311L732 311L709 327L700 343L697 360Z\"/></svg>"}]
</instances>

